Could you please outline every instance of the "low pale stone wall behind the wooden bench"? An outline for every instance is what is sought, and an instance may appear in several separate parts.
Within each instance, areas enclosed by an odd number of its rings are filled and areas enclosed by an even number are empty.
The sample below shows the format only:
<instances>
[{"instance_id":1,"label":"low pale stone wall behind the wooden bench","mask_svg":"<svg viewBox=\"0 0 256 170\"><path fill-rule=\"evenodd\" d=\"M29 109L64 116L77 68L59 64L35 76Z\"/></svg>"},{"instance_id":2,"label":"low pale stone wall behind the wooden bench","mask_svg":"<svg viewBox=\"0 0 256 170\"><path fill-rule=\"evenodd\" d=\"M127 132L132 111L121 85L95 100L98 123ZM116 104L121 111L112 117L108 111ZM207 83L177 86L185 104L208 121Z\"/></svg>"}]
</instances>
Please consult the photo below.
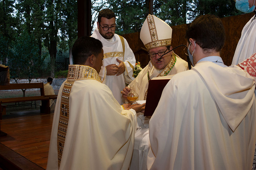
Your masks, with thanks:
<instances>
[{"instance_id":1,"label":"low pale stone wall behind the wooden bench","mask_svg":"<svg viewBox=\"0 0 256 170\"><path fill-rule=\"evenodd\" d=\"M54 90L59 90L61 84L66 80L66 78L53 79L52 87ZM18 79L18 83L29 83L28 79ZM32 79L30 83L47 83L47 79ZM10 84L16 83L14 79L10 80ZM19 89L18 89L19 90ZM35 90L35 89L27 89L27 90ZM40 90L40 89L38 89Z\"/></svg>"}]
</instances>

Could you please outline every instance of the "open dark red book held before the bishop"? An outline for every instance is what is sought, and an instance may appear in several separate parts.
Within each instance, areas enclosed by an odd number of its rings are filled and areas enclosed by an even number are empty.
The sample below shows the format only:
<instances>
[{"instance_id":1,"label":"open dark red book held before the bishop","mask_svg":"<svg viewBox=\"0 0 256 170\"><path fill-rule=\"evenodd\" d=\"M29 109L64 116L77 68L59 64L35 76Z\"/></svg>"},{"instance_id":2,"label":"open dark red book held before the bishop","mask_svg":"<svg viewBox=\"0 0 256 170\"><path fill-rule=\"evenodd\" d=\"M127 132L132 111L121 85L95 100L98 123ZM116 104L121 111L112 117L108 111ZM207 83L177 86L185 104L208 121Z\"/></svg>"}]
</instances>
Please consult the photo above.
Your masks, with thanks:
<instances>
[{"instance_id":1,"label":"open dark red book held before the bishop","mask_svg":"<svg viewBox=\"0 0 256 170\"><path fill-rule=\"evenodd\" d=\"M144 116L152 116L162 95L165 85L170 79L152 79L148 82L148 94Z\"/></svg>"}]
</instances>

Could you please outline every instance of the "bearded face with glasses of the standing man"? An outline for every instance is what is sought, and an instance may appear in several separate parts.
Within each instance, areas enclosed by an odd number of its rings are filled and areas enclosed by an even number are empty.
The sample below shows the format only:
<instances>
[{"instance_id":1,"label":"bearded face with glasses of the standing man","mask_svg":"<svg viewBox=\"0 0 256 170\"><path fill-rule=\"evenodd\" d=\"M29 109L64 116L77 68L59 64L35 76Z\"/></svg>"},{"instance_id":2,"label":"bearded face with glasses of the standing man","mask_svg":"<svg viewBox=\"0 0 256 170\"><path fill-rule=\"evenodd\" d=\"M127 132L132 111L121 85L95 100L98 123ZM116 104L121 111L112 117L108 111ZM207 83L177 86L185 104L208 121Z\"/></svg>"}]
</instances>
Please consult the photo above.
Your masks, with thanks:
<instances>
[{"instance_id":1,"label":"bearded face with glasses of the standing man","mask_svg":"<svg viewBox=\"0 0 256 170\"><path fill-rule=\"evenodd\" d=\"M104 37L106 39L111 39L115 34L115 30L111 30L111 28L109 28L107 31L104 31L103 27L114 27L115 26L115 17L110 18L110 19L102 17L100 19L100 23L97 22L97 26L98 26L100 35L102 37Z\"/></svg>"}]
</instances>

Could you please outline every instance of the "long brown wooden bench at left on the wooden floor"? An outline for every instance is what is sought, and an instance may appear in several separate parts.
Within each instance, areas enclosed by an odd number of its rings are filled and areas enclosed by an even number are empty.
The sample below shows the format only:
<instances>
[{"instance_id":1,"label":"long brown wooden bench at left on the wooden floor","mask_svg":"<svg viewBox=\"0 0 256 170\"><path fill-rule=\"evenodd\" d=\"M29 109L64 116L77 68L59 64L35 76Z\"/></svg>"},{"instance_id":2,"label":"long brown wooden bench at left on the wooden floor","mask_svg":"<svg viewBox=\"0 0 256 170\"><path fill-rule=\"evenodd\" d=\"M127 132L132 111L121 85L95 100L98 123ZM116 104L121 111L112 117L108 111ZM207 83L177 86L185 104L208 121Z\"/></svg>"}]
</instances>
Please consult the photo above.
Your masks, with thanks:
<instances>
[{"instance_id":1,"label":"long brown wooden bench at left on the wooden floor","mask_svg":"<svg viewBox=\"0 0 256 170\"><path fill-rule=\"evenodd\" d=\"M13 97L13 98L0 98L0 120L2 120L2 104L14 103L14 102L27 102L41 100L40 113L50 113L50 99L56 99L57 95L45 95L44 94L44 83L15 83L10 85L1 85L0 90L13 90L13 89L40 89L40 96L29 96L29 97ZM0 136L5 136L6 133L1 131Z\"/></svg>"}]
</instances>

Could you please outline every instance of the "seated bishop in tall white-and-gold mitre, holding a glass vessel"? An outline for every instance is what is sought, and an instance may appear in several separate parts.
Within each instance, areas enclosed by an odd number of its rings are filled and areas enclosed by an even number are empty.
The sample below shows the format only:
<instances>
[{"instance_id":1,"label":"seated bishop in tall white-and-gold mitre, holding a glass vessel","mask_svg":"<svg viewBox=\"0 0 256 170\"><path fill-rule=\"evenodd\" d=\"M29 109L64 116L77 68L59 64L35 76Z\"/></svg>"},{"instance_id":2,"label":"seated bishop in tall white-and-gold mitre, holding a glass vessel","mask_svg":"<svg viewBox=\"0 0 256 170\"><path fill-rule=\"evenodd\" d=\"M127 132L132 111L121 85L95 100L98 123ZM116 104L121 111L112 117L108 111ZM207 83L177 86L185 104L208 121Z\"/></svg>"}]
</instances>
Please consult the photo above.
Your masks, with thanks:
<instances>
[{"instance_id":1,"label":"seated bishop in tall white-and-gold mitre, holding a glass vessel","mask_svg":"<svg viewBox=\"0 0 256 170\"><path fill-rule=\"evenodd\" d=\"M134 86L134 90L139 94L138 100L146 100L150 79L174 75L188 70L188 63L171 51L172 28L166 22L154 15L148 14L141 28L140 38L149 51L150 62L129 86L121 91L122 96L126 100L127 94L130 91L129 87L132 85ZM162 58L158 60L161 56ZM130 169L146 169L144 165L150 148L148 137L149 119L149 117L143 116L143 113L137 117L138 128L135 133L135 145Z\"/></svg>"}]
</instances>

